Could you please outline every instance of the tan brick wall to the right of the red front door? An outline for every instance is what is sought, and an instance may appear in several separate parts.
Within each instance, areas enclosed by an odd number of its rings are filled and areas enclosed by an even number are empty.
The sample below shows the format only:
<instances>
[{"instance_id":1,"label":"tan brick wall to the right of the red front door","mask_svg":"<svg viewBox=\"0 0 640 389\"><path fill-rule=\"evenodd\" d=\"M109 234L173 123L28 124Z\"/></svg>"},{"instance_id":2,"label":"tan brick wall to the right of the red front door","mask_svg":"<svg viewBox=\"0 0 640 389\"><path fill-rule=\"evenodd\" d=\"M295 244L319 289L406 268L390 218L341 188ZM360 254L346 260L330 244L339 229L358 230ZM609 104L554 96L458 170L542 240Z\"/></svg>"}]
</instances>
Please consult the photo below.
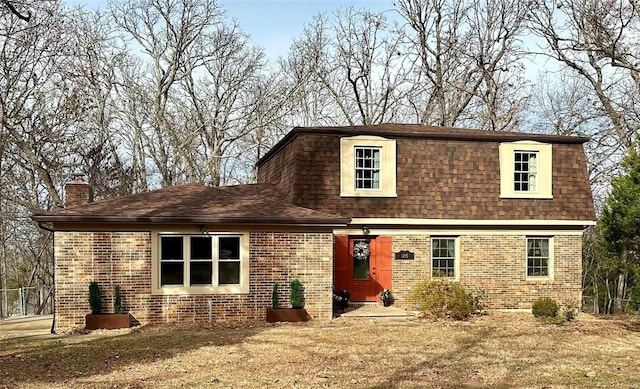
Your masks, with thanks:
<instances>
[{"instance_id":1,"label":"tan brick wall to the right of the red front door","mask_svg":"<svg viewBox=\"0 0 640 389\"><path fill-rule=\"evenodd\" d=\"M489 308L529 309L538 297L550 296L564 306L580 307L582 293L582 237L555 236L554 279L527 280L526 236L460 236L460 282L487 292ZM407 299L417 283L430 279L429 236L394 236L393 252L410 250L415 260L393 260L392 290L396 304Z\"/></svg>"}]
</instances>

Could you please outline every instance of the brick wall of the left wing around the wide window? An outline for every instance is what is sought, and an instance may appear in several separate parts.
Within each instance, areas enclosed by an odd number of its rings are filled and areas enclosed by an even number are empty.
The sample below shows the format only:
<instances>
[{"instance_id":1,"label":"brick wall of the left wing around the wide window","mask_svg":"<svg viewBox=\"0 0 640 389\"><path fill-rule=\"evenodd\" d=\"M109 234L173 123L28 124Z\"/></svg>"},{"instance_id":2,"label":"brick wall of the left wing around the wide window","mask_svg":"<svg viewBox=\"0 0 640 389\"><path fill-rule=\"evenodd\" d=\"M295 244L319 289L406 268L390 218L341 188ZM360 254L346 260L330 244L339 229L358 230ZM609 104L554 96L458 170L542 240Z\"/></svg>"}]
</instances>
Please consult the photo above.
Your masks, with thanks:
<instances>
[{"instance_id":1,"label":"brick wall of the left wing around the wide window","mask_svg":"<svg viewBox=\"0 0 640 389\"><path fill-rule=\"evenodd\" d=\"M317 320L332 315L330 233L250 234L250 291L242 295L151 295L151 234L148 232L55 233L57 332L84 327L89 282L102 290L103 312L113 312L113 288L120 285L123 311L141 324L262 320L271 306L271 288L280 284L288 307L289 282L299 278L305 308Z\"/></svg>"}]
</instances>

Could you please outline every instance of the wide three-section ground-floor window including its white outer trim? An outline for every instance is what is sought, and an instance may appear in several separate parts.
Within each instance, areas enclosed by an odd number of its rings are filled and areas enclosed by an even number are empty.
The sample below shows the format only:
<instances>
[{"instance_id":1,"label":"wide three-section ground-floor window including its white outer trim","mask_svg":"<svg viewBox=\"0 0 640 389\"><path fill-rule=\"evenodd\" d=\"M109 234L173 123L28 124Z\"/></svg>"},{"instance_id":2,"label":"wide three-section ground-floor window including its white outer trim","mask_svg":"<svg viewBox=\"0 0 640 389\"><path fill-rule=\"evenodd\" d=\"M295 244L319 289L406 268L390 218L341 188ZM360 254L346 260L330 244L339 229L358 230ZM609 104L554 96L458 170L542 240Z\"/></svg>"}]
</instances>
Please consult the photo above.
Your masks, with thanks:
<instances>
[{"instance_id":1,"label":"wide three-section ground-floor window including its white outer trim","mask_svg":"<svg viewBox=\"0 0 640 389\"><path fill-rule=\"evenodd\" d=\"M155 235L154 294L246 293L245 234Z\"/></svg>"}]
</instances>

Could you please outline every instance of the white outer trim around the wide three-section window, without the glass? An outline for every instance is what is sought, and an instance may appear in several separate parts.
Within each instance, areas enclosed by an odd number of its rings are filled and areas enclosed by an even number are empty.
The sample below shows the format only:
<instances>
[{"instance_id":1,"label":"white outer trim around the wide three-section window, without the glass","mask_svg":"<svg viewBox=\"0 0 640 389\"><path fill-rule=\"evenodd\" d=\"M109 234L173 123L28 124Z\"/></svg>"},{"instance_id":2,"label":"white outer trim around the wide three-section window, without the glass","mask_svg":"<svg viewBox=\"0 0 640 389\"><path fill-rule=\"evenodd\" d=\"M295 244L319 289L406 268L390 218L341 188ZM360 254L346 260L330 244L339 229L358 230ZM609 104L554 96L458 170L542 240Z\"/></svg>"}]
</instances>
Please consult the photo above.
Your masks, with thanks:
<instances>
[{"instance_id":1,"label":"white outer trim around the wide three-section window, without the glass","mask_svg":"<svg viewBox=\"0 0 640 389\"><path fill-rule=\"evenodd\" d=\"M240 237L240 284L238 285L161 285L160 283L160 236L209 235ZM214 255L215 257L215 255ZM214 259L213 266L218 262ZM189 279L188 261L184 261L185 280ZM213 280L217 283L217 279ZM151 294L152 295L194 295L194 294L247 294L249 293L249 233L248 232L205 232L185 229L172 231L152 231L151 233Z\"/></svg>"}]
</instances>

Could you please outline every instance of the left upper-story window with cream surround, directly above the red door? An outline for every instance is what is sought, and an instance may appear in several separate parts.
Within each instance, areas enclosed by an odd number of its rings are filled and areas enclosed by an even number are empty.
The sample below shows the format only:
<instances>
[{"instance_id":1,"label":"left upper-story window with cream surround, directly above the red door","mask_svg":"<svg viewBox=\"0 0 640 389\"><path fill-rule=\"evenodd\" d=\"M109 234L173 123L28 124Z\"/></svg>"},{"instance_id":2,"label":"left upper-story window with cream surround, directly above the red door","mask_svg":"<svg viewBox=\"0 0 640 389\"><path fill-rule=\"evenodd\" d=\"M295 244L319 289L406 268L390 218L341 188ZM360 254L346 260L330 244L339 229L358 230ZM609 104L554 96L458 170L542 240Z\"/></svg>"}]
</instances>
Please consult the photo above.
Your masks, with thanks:
<instances>
[{"instance_id":1,"label":"left upper-story window with cream surround, directly above the red door","mask_svg":"<svg viewBox=\"0 0 640 389\"><path fill-rule=\"evenodd\" d=\"M378 136L340 139L340 196L396 197L396 141Z\"/></svg>"}]
</instances>

